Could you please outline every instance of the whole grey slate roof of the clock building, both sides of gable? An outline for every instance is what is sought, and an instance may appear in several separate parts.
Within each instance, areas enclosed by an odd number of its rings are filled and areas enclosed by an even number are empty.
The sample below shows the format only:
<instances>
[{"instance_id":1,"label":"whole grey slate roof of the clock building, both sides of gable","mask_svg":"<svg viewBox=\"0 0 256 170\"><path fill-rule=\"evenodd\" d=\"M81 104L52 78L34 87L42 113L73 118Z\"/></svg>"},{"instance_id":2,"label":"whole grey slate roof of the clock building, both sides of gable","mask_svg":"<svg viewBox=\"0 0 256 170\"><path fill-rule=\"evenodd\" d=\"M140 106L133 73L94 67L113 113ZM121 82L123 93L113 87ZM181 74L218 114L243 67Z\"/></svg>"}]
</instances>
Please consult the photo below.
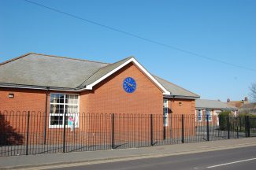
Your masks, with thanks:
<instances>
[{"instance_id":1,"label":"whole grey slate roof of the clock building, both sides of gable","mask_svg":"<svg viewBox=\"0 0 256 170\"><path fill-rule=\"evenodd\" d=\"M0 85L16 84L17 87L26 85L78 89L94 83L131 58L127 57L116 63L108 64L46 54L25 54L11 61L0 63ZM199 98L197 94L165 79L158 76L154 78L171 92L171 95Z\"/></svg>"}]
</instances>

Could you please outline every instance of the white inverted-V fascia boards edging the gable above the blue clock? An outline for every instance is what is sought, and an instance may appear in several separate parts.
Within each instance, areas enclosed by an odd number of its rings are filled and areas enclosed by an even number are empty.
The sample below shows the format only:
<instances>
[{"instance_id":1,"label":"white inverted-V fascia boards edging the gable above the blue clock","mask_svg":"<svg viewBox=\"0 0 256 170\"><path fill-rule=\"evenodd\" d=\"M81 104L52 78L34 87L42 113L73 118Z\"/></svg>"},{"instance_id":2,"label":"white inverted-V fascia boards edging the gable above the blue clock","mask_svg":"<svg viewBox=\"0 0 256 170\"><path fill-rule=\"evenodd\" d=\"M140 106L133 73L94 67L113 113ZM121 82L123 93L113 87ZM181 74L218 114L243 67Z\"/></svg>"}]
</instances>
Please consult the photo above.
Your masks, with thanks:
<instances>
[{"instance_id":1,"label":"white inverted-V fascia boards edging the gable above the blue clock","mask_svg":"<svg viewBox=\"0 0 256 170\"><path fill-rule=\"evenodd\" d=\"M100 79L96 80L94 83L91 83L89 85L87 85L87 87L80 89L80 91L84 91L84 90L92 90L92 87L94 87L97 83L101 82L103 79L106 79L107 77L111 76L114 72L117 72L118 70L120 70L121 68L123 68L125 65L128 65L129 63L133 62L136 66L138 66L138 68L144 72L158 87L161 88L161 90L163 91L163 94L169 95L171 94L169 91L167 91L165 89L165 87L161 86L161 84L158 82L157 79L154 79L153 76L151 76L151 74L149 72L147 72L147 70L145 68L143 68L142 65L139 64L138 61L136 61L133 57L131 59L129 59L128 61L125 61L122 65L118 66L117 68L114 68L111 72L107 73L105 76L102 76Z\"/></svg>"}]
</instances>

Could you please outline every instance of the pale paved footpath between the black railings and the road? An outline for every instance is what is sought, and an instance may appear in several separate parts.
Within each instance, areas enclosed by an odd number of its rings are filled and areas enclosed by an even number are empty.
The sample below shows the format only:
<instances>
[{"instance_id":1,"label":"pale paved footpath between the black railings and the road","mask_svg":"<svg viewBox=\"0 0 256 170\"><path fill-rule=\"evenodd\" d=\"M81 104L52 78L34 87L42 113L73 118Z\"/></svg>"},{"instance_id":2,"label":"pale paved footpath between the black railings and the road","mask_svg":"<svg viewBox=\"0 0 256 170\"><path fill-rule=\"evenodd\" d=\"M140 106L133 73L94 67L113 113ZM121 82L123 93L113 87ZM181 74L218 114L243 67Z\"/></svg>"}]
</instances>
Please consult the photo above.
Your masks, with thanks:
<instances>
[{"instance_id":1,"label":"pale paved footpath between the black railings and the road","mask_svg":"<svg viewBox=\"0 0 256 170\"><path fill-rule=\"evenodd\" d=\"M0 157L0 169L64 168L85 164L128 161L150 157L166 157L186 153L201 153L256 146L256 138L227 139L213 142L195 142L176 145L153 146L124 150L98 150L72 153L47 153L28 156Z\"/></svg>"}]
</instances>

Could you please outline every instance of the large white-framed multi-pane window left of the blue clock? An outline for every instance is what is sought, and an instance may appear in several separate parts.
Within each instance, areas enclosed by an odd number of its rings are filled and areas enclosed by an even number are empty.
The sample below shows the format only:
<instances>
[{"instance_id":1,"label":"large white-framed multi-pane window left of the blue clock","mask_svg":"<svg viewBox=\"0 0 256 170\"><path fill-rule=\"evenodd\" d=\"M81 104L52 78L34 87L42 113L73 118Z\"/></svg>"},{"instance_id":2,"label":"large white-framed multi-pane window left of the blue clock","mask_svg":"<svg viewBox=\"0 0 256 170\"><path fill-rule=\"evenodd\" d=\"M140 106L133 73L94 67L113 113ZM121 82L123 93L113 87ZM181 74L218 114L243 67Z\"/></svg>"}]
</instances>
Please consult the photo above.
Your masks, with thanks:
<instances>
[{"instance_id":1,"label":"large white-framed multi-pane window left of the blue clock","mask_svg":"<svg viewBox=\"0 0 256 170\"><path fill-rule=\"evenodd\" d=\"M50 94L50 127L63 127L64 114L67 127L78 127L78 95Z\"/></svg>"}]
</instances>

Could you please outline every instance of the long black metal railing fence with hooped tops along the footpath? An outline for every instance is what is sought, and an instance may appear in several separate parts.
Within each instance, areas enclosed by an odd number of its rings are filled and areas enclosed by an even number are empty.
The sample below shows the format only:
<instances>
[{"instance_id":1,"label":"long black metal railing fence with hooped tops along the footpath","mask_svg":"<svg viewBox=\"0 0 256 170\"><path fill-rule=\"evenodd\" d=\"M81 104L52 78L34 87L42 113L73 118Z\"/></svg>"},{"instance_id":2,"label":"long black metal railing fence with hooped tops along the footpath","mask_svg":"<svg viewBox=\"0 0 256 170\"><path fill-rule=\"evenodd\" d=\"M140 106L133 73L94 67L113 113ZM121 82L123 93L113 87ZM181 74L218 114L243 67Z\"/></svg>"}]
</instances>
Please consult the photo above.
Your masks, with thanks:
<instances>
[{"instance_id":1,"label":"long black metal railing fence with hooped tops along the footpath","mask_svg":"<svg viewBox=\"0 0 256 170\"><path fill-rule=\"evenodd\" d=\"M0 113L0 156L110 150L256 136L250 116Z\"/></svg>"}]
</instances>

